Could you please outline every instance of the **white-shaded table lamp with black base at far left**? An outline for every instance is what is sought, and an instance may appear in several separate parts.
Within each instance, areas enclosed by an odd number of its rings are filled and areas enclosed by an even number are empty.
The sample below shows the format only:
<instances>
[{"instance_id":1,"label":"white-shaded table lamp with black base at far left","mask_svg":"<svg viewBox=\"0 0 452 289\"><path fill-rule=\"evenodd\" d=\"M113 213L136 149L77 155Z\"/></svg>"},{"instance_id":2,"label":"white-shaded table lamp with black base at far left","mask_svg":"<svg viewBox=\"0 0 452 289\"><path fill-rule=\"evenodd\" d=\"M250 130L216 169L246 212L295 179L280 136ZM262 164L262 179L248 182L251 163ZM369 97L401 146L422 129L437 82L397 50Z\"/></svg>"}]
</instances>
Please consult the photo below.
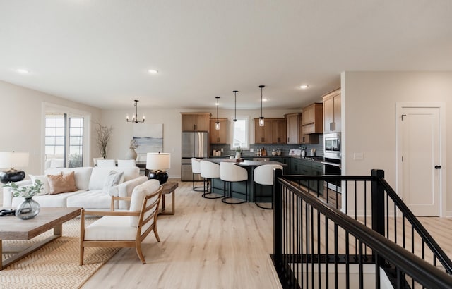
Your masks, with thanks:
<instances>
[{"instance_id":1,"label":"white-shaded table lamp with black base at far left","mask_svg":"<svg viewBox=\"0 0 452 289\"><path fill-rule=\"evenodd\" d=\"M0 182L18 182L25 178L25 171L16 168L28 166L28 152L0 152L0 168L8 168L8 171L0 172Z\"/></svg>"}]
</instances>

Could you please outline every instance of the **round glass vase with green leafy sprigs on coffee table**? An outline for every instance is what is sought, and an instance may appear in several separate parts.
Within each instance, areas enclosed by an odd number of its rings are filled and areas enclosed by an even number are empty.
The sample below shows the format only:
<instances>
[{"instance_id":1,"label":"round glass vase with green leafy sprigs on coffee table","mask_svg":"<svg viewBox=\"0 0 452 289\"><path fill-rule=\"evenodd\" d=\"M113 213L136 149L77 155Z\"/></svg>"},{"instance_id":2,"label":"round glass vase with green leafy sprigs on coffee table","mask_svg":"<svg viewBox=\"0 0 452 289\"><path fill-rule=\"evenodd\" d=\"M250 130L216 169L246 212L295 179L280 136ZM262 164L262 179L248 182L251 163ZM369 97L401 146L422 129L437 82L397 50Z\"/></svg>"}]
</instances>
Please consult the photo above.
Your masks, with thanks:
<instances>
[{"instance_id":1,"label":"round glass vase with green leafy sprigs on coffee table","mask_svg":"<svg viewBox=\"0 0 452 289\"><path fill-rule=\"evenodd\" d=\"M40 212L40 204L32 199L33 196L39 194L42 190L40 180L28 186L19 187L16 183L7 183L4 187L11 187L14 197L23 197L24 201L16 208L16 216L20 219L32 219Z\"/></svg>"}]
</instances>

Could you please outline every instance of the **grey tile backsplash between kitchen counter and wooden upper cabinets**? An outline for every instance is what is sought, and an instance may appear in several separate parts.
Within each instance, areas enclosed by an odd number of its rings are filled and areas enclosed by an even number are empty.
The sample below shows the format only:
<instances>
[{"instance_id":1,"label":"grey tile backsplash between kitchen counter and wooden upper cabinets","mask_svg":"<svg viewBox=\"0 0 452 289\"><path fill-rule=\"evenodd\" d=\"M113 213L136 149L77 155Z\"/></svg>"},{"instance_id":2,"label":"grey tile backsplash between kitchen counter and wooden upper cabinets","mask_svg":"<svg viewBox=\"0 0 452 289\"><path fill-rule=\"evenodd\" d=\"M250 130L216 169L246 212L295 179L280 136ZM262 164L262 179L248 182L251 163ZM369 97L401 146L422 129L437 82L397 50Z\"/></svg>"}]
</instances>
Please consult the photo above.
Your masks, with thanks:
<instances>
[{"instance_id":1,"label":"grey tile backsplash between kitchen counter and wooden upper cabinets","mask_svg":"<svg viewBox=\"0 0 452 289\"><path fill-rule=\"evenodd\" d=\"M250 148L254 149L254 152L250 152L249 149L242 149L242 156L256 156L257 150L265 148L267 154L271 156L271 151L273 149L280 149L282 156L288 156L290 149L299 149L300 147L306 147L307 152L311 149L316 149L316 156L323 156L323 135L319 135L319 143L318 144L251 144ZM230 144L210 144L210 152L209 156L213 156L213 150L221 152L222 156L234 156L235 150L231 149Z\"/></svg>"}]
</instances>

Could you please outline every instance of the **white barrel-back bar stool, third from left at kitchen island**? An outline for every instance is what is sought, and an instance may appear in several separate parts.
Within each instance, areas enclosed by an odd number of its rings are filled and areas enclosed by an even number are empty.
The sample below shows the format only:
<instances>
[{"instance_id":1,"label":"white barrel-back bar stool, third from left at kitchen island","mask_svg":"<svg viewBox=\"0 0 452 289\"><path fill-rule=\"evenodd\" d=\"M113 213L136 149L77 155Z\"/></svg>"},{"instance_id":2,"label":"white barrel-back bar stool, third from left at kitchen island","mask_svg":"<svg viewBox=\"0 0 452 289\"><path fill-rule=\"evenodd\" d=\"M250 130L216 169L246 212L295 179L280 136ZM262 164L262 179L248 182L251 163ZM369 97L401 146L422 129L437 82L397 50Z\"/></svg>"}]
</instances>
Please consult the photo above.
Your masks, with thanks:
<instances>
[{"instance_id":1,"label":"white barrel-back bar stool, third from left at kitchen island","mask_svg":"<svg viewBox=\"0 0 452 289\"><path fill-rule=\"evenodd\" d=\"M224 183L224 195L221 202L225 204L242 204L248 202L248 184L245 184L245 200L242 202L227 202L226 199L232 198L234 193L232 184L237 182L244 182L248 180L248 171L245 168L237 166L236 164L222 161L220 162L220 179ZM229 183L229 197L226 197L226 183Z\"/></svg>"}]
</instances>

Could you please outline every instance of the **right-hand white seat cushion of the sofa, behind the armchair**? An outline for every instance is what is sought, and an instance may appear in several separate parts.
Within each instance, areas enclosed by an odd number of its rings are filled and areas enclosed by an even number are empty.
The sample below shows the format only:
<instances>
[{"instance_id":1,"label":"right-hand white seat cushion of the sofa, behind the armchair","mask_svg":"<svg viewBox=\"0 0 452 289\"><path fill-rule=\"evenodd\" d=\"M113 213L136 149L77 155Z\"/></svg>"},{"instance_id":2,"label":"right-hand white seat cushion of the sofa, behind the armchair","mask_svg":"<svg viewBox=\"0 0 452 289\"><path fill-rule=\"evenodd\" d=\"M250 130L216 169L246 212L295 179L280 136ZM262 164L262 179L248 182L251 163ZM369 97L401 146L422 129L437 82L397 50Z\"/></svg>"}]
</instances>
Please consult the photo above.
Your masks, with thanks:
<instances>
[{"instance_id":1,"label":"right-hand white seat cushion of the sofa, behind the armchair","mask_svg":"<svg viewBox=\"0 0 452 289\"><path fill-rule=\"evenodd\" d=\"M111 203L112 197L104 194L102 190L81 191L66 200L67 207L82 207L85 209L109 209Z\"/></svg>"}]
</instances>

